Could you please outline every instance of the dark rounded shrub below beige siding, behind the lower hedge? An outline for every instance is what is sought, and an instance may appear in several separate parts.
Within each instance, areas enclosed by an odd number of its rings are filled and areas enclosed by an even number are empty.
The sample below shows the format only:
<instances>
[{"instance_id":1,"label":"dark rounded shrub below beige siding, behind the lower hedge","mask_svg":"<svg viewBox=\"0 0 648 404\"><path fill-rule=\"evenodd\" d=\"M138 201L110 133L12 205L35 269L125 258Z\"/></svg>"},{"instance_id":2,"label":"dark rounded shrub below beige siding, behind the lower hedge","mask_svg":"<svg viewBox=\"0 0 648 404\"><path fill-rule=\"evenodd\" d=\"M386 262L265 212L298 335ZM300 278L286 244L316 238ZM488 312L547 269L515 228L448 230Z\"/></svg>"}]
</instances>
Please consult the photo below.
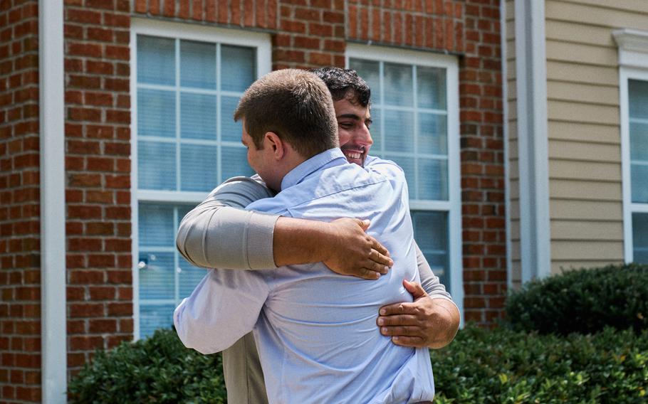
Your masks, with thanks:
<instances>
[{"instance_id":1,"label":"dark rounded shrub below beige siding, behind the lower hedge","mask_svg":"<svg viewBox=\"0 0 648 404\"><path fill-rule=\"evenodd\" d=\"M506 300L513 329L581 334L648 328L648 266L610 265L529 282Z\"/></svg>"}]
</instances>

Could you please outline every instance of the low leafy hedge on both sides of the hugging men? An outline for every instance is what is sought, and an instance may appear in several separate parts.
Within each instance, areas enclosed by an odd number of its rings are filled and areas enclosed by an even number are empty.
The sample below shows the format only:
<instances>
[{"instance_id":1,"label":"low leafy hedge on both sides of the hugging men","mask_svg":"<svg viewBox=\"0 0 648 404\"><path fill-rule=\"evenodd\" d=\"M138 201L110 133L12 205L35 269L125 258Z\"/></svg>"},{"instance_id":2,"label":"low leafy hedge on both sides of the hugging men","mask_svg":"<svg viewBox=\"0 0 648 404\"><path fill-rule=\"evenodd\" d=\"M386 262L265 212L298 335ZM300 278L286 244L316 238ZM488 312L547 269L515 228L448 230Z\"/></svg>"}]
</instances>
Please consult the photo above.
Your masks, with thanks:
<instances>
[{"instance_id":1,"label":"low leafy hedge on both sides of the hugging men","mask_svg":"<svg viewBox=\"0 0 648 404\"><path fill-rule=\"evenodd\" d=\"M648 331L560 337L469 325L431 356L437 404L648 401ZM221 366L220 355L157 331L98 352L70 383L70 402L225 403Z\"/></svg>"}]
</instances>

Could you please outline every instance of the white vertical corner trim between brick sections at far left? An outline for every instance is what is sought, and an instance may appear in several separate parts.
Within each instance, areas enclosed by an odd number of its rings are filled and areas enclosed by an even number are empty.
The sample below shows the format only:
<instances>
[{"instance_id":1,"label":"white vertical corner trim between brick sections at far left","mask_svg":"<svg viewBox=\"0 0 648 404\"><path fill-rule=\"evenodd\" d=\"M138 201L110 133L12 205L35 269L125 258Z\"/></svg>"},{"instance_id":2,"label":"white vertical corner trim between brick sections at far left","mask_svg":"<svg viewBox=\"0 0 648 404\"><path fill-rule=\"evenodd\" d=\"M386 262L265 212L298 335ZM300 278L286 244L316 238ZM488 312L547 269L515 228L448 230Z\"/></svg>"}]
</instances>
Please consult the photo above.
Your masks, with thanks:
<instances>
[{"instance_id":1,"label":"white vertical corner trim between brick sections at far left","mask_svg":"<svg viewBox=\"0 0 648 404\"><path fill-rule=\"evenodd\" d=\"M38 1L43 403L66 403L66 183L63 0ZM46 67L46 68L45 68Z\"/></svg>"}]
</instances>

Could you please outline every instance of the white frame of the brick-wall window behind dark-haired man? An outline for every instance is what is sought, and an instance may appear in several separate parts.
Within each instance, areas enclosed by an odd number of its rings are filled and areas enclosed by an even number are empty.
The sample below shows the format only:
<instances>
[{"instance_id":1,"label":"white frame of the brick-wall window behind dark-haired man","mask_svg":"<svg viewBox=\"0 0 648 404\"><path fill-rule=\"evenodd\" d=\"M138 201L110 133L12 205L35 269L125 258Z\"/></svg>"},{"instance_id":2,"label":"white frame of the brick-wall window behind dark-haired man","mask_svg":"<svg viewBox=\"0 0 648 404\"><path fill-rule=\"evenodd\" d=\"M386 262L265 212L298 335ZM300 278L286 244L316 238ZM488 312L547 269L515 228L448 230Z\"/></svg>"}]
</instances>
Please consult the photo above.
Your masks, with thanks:
<instances>
[{"instance_id":1,"label":"white frame of the brick-wall window behind dark-haired man","mask_svg":"<svg viewBox=\"0 0 648 404\"><path fill-rule=\"evenodd\" d=\"M350 58L361 58L379 62L419 65L446 70L446 102L448 122L448 201L410 201L413 211L448 212L448 255L450 294L459 307L463 322L464 276L461 264L461 161L459 159L459 60L453 55L365 46L347 43L346 65ZM382 125L381 125L382 128Z\"/></svg>"}]
</instances>

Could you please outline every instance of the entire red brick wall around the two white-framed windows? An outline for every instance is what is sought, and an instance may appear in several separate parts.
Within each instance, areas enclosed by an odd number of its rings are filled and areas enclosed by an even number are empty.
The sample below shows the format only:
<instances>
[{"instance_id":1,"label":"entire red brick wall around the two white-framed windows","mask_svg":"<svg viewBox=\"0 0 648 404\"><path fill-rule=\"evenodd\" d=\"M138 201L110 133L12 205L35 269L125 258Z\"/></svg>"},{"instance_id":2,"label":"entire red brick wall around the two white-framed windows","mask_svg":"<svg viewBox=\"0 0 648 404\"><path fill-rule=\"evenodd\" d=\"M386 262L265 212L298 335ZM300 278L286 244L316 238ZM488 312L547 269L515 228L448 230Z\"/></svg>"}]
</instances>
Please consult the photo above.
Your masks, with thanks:
<instances>
[{"instance_id":1,"label":"entire red brick wall around the two white-framed windows","mask_svg":"<svg viewBox=\"0 0 648 404\"><path fill-rule=\"evenodd\" d=\"M68 376L132 339L133 17L270 33L278 68L343 66L347 43L459 55L464 319L506 292L498 0L65 1ZM0 400L41 400L38 1L0 1Z\"/></svg>"}]
</instances>

